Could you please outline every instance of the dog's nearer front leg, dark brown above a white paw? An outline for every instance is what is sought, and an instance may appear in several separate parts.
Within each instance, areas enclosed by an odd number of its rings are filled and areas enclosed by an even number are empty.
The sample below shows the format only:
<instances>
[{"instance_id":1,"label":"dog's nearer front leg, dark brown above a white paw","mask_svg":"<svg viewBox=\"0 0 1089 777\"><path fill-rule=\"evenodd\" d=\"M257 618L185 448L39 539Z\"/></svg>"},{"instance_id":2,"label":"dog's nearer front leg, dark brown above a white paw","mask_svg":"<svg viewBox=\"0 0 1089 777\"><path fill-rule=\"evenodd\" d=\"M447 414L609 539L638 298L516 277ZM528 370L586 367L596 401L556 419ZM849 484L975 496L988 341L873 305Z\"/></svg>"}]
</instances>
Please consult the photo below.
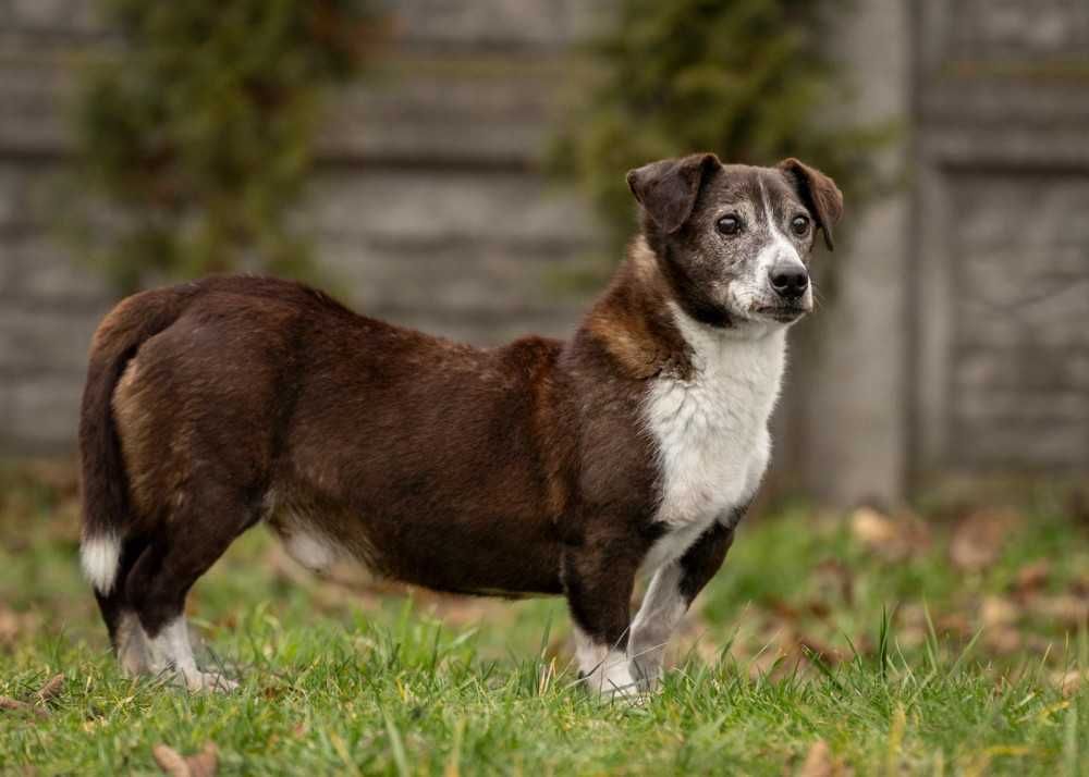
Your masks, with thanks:
<instances>
[{"instance_id":1,"label":"dog's nearer front leg, dark brown above a white paw","mask_svg":"<svg viewBox=\"0 0 1089 777\"><path fill-rule=\"evenodd\" d=\"M592 691L637 692L626 646L638 558L604 548L578 548L564 556L563 569L579 675Z\"/></svg>"}]
</instances>

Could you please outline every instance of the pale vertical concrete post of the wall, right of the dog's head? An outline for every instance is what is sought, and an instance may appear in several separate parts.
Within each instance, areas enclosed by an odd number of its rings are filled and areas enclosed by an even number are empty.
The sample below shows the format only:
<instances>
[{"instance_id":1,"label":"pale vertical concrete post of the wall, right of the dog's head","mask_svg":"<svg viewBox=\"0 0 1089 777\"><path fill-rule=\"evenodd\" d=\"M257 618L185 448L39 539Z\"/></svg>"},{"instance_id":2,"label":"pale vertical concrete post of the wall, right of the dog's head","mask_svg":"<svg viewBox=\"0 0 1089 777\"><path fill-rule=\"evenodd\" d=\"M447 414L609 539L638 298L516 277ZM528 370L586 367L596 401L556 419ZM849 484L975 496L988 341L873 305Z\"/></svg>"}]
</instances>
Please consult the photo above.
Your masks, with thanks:
<instances>
[{"instance_id":1,"label":"pale vertical concrete post of the wall, right of the dog's head","mask_svg":"<svg viewBox=\"0 0 1089 777\"><path fill-rule=\"evenodd\" d=\"M909 148L911 22L903 0L854 3L829 41L858 90L855 118L903 122L882 160L890 170L902 169ZM792 480L832 504L904 496L909 206L906 188L866 208L846 203L843 249L817 259L835 262L833 298L795 333L788 412L802 447L787 460L802 470Z\"/></svg>"}]
</instances>

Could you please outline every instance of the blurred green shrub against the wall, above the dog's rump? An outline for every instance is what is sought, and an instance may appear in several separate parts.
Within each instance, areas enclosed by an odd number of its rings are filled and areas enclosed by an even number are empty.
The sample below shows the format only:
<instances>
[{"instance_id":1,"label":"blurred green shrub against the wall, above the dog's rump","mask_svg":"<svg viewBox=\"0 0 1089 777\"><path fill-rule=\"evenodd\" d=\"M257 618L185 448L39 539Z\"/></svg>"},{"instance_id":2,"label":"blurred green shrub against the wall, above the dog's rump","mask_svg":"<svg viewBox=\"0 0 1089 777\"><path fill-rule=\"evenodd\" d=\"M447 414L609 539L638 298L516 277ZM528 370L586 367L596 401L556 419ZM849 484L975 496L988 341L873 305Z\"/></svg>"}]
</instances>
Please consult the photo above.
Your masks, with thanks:
<instances>
[{"instance_id":1,"label":"blurred green shrub against the wall, above the dog's rump","mask_svg":"<svg viewBox=\"0 0 1089 777\"><path fill-rule=\"evenodd\" d=\"M101 11L120 45L83 76L71 182L70 221L93 261L124 291L234 269L305 274L306 242L286 217L322 97L375 39L365 1L101 0Z\"/></svg>"}]
</instances>

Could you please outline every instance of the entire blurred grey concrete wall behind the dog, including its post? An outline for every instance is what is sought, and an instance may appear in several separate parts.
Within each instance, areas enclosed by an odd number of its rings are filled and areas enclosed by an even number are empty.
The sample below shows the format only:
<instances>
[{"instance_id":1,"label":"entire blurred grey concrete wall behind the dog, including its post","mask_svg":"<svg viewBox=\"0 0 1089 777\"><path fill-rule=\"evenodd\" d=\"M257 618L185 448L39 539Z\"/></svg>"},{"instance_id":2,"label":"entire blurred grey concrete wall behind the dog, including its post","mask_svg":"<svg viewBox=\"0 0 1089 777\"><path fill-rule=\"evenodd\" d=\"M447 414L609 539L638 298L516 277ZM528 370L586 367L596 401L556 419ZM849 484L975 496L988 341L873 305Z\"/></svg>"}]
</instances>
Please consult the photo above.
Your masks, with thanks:
<instances>
[{"instance_id":1,"label":"entire blurred grey concrete wall behind the dog, including its post","mask_svg":"<svg viewBox=\"0 0 1089 777\"><path fill-rule=\"evenodd\" d=\"M111 304L57 239L72 52L91 0L0 0L0 452L71 451ZM480 344L570 332L598 232L539 162L578 0L397 3L382 72L339 95L296 215L360 309ZM895 499L946 473L1089 470L1089 5L873 0L836 51L900 118L909 185L852 234L792 335L776 480ZM827 260L827 258L825 258Z\"/></svg>"}]
</instances>

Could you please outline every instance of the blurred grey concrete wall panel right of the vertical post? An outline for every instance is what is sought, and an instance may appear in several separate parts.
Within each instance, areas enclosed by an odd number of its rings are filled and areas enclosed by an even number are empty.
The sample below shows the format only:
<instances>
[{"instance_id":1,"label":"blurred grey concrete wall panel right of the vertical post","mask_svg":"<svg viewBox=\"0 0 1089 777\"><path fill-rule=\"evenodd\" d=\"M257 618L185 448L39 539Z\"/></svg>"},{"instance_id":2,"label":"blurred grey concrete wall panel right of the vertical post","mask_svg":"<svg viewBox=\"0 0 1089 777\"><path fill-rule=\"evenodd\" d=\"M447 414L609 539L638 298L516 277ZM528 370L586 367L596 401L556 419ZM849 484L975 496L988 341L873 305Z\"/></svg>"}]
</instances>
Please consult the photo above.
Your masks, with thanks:
<instances>
[{"instance_id":1,"label":"blurred grey concrete wall panel right of the vertical post","mask_svg":"<svg viewBox=\"0 0 1089 777\"><path fill-rule=\"evenodd\" d=\"M921 11L916 476L1089 473L1089 5Z\"/></svg>"}]
</instances>

